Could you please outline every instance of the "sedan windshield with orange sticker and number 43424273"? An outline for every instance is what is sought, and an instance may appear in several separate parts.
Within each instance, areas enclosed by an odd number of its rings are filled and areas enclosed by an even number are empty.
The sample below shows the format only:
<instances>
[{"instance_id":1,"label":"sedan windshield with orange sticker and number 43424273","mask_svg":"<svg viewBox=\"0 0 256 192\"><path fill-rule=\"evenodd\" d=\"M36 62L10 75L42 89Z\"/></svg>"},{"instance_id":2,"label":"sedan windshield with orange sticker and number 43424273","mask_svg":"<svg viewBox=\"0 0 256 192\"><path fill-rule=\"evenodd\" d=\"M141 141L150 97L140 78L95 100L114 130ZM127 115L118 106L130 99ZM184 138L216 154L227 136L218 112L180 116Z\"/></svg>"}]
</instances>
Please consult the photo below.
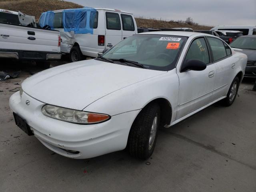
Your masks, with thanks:
<instances>
[{"instance_id":1,"label":"sedan windshield with orange sticker and number 43424273","mask_svg":"<svg viewBox=\"0 0 256 192\"><path fill-rule=\"evenodd\" d=\"M138 62L146 69L168 71L175 68L186 40L187 38L182 36L133 35L102 56L112 60Z\"/></svg>"}]
</instances>

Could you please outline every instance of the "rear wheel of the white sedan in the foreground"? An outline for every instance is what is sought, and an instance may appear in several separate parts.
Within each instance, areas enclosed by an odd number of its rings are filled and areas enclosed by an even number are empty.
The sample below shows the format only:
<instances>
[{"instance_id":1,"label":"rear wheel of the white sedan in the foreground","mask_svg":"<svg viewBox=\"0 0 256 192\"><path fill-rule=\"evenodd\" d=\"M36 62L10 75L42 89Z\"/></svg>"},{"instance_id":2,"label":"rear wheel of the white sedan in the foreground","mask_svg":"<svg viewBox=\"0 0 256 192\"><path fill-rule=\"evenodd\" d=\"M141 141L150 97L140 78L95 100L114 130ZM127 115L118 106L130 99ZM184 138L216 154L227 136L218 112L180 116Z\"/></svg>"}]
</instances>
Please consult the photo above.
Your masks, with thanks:
<instances>
[{"instance_id":1,"label":"rear wheel of the white sedan in the foreground","mask_svg":"<svg viewBox=\"0 0 256 192\"><path fill-rule=\"evenodd\" d=\"M235 77L228 90L227 97L222 100L224 106L230 106L234 103L239 88L239 78Z\"/></svg>"}]
</instances>

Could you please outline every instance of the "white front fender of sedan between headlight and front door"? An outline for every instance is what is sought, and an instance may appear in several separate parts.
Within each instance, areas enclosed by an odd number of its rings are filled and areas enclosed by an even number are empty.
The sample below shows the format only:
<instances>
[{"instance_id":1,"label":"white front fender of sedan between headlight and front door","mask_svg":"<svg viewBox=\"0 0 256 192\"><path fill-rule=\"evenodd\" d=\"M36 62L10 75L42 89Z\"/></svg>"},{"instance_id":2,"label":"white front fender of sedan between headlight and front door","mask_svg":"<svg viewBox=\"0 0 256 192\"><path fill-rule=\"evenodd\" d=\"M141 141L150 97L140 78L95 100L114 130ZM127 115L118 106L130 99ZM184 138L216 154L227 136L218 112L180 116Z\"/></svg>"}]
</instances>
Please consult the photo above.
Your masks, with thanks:
<instances>
[{"instance_id":1,"label":"white front fender of sedan between headlight and front door","mask_svg":"<svg viewBox=\"0 0 256 192\"><path fill-rule=\"evenodd\" d=\"M84 111L99 112L114 116L142 109L157 98L165 98L171 104L172 116L177 111L179 80L176 70L132 84L96 100Z\"/></svg>"}]
</instances>

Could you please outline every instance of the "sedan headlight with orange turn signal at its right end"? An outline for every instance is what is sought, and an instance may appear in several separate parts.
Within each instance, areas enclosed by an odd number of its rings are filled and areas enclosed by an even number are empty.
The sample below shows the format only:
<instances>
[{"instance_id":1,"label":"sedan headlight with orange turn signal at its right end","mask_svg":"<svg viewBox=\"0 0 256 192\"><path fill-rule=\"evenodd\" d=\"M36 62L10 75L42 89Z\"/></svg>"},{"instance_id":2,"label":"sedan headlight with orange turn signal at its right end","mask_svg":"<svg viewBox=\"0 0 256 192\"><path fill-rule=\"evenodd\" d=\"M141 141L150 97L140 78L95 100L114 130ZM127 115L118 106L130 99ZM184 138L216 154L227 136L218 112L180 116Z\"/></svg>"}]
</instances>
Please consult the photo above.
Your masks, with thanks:
<instances>
[{"instance_id":1,"label":"sedan headlight with orange turn signal at its right end","mask_svg":"<svg viewBox=\"0 0 256 192\"><path fill-rule=\"evenodd\" d=\"M94 124L110 119L109 115L78 111L53 105L44 105L42 113L45 116L77 124Z\"/></svg>"}]
</instances>

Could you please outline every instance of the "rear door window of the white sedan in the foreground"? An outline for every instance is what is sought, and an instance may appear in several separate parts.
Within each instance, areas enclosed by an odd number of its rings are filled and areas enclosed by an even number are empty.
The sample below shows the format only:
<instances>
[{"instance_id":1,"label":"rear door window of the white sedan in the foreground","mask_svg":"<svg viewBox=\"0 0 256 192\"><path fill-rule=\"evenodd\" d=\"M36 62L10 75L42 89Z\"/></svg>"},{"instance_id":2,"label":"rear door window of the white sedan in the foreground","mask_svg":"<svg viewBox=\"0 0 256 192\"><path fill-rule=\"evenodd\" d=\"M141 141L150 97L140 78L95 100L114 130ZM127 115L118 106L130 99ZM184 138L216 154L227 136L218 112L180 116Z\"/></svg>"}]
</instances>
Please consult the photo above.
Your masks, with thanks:
<instances>
[{"instance_id":1,"label":"rear door window of the white sedan in the foreground","mask_svg":"<svg viewBox=\"0 0 256 192\"><path fill-rule=\"evenodd\" d=\"M219 60L227 56L226 48L222 40L217 38L207 37L208 42L212 48L213 60Z\"/></svg>"}]
</instances>

